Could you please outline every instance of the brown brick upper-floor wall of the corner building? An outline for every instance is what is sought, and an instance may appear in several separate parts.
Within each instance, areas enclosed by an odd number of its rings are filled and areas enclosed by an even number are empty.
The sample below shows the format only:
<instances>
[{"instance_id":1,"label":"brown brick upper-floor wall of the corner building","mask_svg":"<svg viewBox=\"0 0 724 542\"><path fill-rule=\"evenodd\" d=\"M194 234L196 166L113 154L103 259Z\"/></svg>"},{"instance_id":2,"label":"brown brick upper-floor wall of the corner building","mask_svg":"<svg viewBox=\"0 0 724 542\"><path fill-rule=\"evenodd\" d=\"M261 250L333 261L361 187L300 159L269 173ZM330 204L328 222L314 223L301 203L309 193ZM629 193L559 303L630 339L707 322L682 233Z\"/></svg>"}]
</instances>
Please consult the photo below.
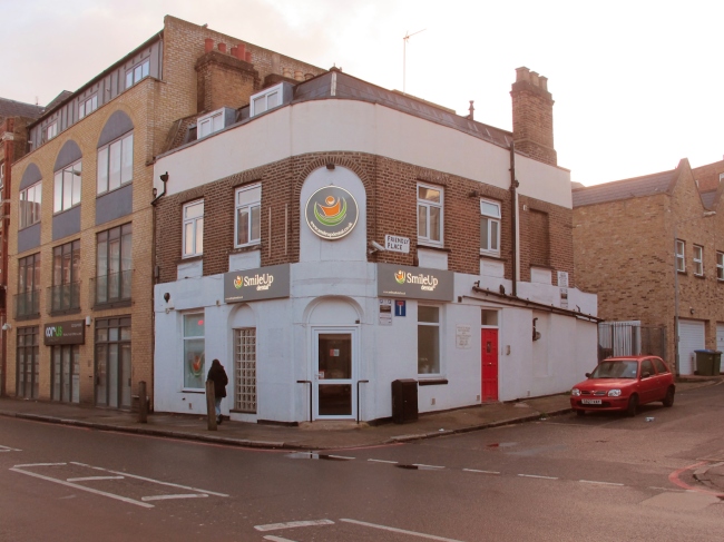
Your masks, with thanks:
<instances>
[{"instance_id":1,"label":"brown brick upper-floor wall of the corner building","mask_svg":"<svg viewBox=\"0 0 724 542\"><path fill-rule=\"evenodd\" d=\"M409 237L410 254L375 253L370 262L415 265L417 253L417 186L433 184L444 190L444 249L449 269L478 275L480 272L480 197L501 203L501 259L506 277L511 278L510 193L489 185L434 171L381 156L362 152L320 152L295 156L225 179L209 183L180 194L164 197L157 207L157 265L159 282L176 280L182 262L182 210L185 203L204 198L204 275L228 270L228 256L234 252L234 189L250 183L262 185L262 266L295 263L300 259L300 194L306 177L327 162L353 170L366 190L368 238L384 242L387 234ZM477 190L479 196L472 196ZM547 217L546 238L549 265L566 270L574 285L573 240L569 209L525 198L527 205L544 209ZM522 206L522 201L520 204ZM270 235L270 216L271 235ZM285 217L287 217L285 221ZM538 229L528 225L526 214L521 224L521 260L541 249L538 238L529 238ZM524 256L525 255L525 256ZM524 273L527 280L529 269Z\"/></svg>"}]
</instances>

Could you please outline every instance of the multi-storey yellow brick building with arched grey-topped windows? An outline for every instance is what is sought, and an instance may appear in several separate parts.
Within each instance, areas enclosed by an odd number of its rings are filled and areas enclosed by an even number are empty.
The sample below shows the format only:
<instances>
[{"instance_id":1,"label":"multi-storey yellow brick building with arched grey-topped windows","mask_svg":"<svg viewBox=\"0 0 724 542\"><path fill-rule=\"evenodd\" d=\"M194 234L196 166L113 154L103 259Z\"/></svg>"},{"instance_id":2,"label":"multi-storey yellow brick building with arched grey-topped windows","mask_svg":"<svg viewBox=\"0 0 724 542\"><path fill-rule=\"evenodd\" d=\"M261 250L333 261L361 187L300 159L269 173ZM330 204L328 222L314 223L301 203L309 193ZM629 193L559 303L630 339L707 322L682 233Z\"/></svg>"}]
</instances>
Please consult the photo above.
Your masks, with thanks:
<instances>
[{"instance_id":1,"label":"multi-storey yellow brick building with arched grey-topped windows","mask_svg":"<svg viewBox=\"0 0 724 542\"><path fill-rule=\"evenodd\" d=\"M323 71L166 17L28 124L9 195L11 395L129 408L139 382L153 392L155 157L177 119Z\"/></svg>"}]
</instances>

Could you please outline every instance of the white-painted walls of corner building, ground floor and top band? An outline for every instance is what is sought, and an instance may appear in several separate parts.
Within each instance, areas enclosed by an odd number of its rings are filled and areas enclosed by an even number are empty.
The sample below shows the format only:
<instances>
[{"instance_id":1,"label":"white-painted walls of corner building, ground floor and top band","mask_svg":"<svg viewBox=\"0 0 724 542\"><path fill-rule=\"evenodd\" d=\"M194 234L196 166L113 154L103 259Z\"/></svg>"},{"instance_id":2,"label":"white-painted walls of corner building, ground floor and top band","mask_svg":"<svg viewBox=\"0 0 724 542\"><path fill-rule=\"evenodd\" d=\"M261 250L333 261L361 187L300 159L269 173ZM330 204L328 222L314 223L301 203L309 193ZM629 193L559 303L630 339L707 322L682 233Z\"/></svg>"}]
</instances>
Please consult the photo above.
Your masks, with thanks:
<instances>
[{"instance_id":1,"label":"white-painted walls of corner building, ground floor and top band","mask_svg":"<svg viewBox=\"0 0 724 542\"><path fill-rule=\"evenodd\" d=\"M284 134L284 137L280 137ZM404 134L404 138L400 137ZM403 140L404 139L404 140ZM166 189L176 194L263 166L288 156L319 151L363 151L446 171L502 188L509 186L507 149L467 134L379 105L352 100L322 100L280 108L253 121L226 129L158 159L155 179L169 171ZM521 194L571 207L568 171L517 157ZM524 174L525 171L525 174ZM355 228L337 240L312 233L304 219L307 198L334 184L355 198L360 216ZM158 185L158 191L163 186ZM205 413L203 391L184 388L184 314L203 314L206 371L218 358L229 376L224 414L232 420L305 422L312 418L389 418L391 383L398 378L437 381L420 385L421 413L480 404L481 309L498 311L498 400L565 392L596 365L597 326L574 315L554 314L534 306L510 306L496 296L473 292L473 285L512 290L502 264L481 258L480 275L454 273L452 299L407 299L407 315L382 325L378 296L378 264L368 262L366 195L351 170L336 167L313 171L300 196L300 262L290 265L290 296L227 304L224 275L203 277L200 266L179 266L178 279L155 287L155 410ZM180 247L179 247L180 248ZM440 253L419 253L420 267L446 268ZM229 272L256 268L258 253L234 255ZM184 278L188 277L188 278ZM560 307L560 288L518 283L518 296ZM165 300L168 294L168 302ZM568 307L596 315L596 296L568 288ZM437 306L440 314L440 371L418 373L418 308ZM540 338L532 339L537 319ZM231 412L236 393L234 329L256 329L256 413ZM461 329L470 329L468 344ZM352 410L343 416L319 412L316 359L325 333L345 333L352 347ZM312 382L312 405L310 384ZM360 396L358 397L358 382ZM360 405L358 411L358 403Z\"/></svg>"}]
</instances>

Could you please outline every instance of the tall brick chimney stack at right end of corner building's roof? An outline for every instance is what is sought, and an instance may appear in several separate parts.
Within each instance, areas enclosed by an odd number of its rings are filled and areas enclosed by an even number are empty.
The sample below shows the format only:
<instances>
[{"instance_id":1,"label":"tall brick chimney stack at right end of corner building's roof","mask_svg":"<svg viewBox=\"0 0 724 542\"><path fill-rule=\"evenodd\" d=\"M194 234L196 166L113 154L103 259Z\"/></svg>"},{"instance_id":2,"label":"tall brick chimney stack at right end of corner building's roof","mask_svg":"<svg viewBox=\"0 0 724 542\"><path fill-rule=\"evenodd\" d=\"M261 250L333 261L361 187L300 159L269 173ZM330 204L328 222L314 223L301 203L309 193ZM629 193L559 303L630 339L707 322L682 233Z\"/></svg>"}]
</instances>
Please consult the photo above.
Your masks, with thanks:
<instances>
[{"instance_id":1,"label":"tall brick chimney stack at right end of corner building's roof","mask_svg":"<svg viewBox=\"0 0 724 542\"><path fill-rule=\"evenodd\" d=\"M548 78L528 68L518 68L510 96L516 150L557 166L558 157L554 148L554 99L548 92Z\"/></svg>"}]
</instances>

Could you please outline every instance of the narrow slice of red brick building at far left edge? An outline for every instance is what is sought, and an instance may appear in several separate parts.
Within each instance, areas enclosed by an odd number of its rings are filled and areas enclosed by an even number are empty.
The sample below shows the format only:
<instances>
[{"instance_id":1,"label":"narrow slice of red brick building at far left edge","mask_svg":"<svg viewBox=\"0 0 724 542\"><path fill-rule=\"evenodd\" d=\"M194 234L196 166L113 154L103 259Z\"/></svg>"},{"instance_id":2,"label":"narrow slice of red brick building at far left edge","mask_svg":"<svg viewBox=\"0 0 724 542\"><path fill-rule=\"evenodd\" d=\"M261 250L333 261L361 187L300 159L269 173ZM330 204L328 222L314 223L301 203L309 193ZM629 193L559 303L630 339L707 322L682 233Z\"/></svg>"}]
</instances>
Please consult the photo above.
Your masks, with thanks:
<instances>
[{"instance_id":1,"label":"narrow slice of red brick building at far left edge","mask_svg":"<svg viewBox=\"0 0 724 542\"><path fill-rule=\"evenodd\" d=\"M6 388L8 356L6 351L6 322L8 319L8 227L10 224L10 186L12 164L28 151L27 126L42 114L42 107L0 98L0 395Z\"/></svg>"}]
</instances>

